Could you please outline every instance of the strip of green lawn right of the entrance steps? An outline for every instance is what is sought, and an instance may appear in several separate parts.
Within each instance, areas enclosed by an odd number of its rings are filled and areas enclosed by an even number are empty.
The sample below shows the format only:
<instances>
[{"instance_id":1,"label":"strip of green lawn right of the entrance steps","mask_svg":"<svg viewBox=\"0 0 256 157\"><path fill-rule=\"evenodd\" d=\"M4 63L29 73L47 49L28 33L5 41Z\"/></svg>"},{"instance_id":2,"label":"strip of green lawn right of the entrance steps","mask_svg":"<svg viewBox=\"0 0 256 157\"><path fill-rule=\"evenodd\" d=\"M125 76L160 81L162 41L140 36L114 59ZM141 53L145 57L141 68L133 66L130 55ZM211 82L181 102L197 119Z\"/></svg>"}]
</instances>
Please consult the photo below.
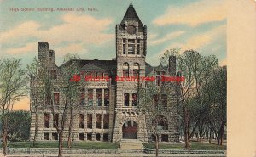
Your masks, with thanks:
<instances>
[{"instance_id":1,"label":"strip of green lawn right of the entrance steps","mask_svg":"<svg viewBox=\"0 0 256 157\"><path fill-rule=\"evenodd\" d=\"M154 149L154 143L145 143L144 147ZM184 143L160 143L160 149L184 149ZM193 150L225 150L226 146L219 146L214 143L191 142Z\"/></svg>"}]
</instances>

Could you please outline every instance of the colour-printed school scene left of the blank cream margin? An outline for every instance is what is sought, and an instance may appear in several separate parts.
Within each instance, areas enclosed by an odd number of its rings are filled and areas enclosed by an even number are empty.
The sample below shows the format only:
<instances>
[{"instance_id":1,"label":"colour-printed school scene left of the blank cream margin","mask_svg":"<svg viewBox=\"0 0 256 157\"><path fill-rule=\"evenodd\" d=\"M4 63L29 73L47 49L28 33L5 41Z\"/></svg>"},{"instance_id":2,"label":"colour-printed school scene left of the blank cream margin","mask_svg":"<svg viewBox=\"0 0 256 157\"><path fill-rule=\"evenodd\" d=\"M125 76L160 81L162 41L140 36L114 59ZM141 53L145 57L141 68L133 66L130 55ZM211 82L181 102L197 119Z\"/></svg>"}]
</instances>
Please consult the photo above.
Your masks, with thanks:
<instances>
[{"instance_id":1,"label":"colour-printed school scene left of the blank cream margin","mask_svg":"<svg viewBox=\"0 0 256 157\"><path fill-rule=\"evenodd\" d=\"M0 154L229 156L226 1L0 4Z\"/></svg>"}]
</instances>

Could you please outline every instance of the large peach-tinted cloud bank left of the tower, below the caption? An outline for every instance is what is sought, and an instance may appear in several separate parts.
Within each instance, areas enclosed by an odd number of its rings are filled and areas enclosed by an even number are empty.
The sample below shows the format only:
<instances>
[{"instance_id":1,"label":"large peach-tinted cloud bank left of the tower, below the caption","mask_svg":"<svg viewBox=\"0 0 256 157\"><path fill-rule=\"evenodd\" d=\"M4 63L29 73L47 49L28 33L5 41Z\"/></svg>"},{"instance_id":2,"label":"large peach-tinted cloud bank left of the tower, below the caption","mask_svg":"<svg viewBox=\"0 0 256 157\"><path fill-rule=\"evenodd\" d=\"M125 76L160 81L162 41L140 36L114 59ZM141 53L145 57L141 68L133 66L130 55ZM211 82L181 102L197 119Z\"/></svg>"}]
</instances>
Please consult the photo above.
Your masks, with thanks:
<instances>
[{"instance_id":1,"label":"large peach-tinted cloud bank left of the tower, below the caption","mask_svg":"<svg viewBox=\"0 0 256 157\"><path fill-rule=\"evenodd\" d=\"M64 14L61 17L63 23L42 30L41 25L35 21L26 21L15 28L5 31L0 35L2 44L12 42L27 41L31 37L36 37L39 41L49 42L55 47L61 46L61 42L82 42L84 44L102 44L113 39L113 34L108 34L108 26L113 22L112 19L96 19L90 15ZM33 49L32 44L37 46L37 42L27 43L20 48L9 48L7 53L18 54L26 53ZM62 49L63 53L68 50L77 51L82 47L81 44L70 44L67 49Z\"/></svg>"}]
</instances>

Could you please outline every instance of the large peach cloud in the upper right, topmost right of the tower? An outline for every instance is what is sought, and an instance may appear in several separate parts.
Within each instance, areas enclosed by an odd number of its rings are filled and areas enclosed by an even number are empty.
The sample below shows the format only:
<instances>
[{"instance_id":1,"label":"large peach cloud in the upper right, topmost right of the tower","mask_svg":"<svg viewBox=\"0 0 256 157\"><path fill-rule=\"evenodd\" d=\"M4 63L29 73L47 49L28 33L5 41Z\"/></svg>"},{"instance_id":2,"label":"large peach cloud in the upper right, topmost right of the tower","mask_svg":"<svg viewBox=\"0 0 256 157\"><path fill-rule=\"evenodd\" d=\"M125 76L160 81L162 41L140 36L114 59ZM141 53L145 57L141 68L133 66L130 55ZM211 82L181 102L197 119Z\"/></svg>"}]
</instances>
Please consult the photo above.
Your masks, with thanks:
<instances>
[{"instance_id":1,"label":"large peach cloud in the upper right, topmost right of the tower","mask_svg":"<svg viewBox=\"0 0 256 157\"><path fill-rule=\"evenodd\" d=\"M225 0L201 0L187 6L169 6L166 13L156 18L155 25L185 24L196 26L226 19Z\"/></svg>"}]
</instances>

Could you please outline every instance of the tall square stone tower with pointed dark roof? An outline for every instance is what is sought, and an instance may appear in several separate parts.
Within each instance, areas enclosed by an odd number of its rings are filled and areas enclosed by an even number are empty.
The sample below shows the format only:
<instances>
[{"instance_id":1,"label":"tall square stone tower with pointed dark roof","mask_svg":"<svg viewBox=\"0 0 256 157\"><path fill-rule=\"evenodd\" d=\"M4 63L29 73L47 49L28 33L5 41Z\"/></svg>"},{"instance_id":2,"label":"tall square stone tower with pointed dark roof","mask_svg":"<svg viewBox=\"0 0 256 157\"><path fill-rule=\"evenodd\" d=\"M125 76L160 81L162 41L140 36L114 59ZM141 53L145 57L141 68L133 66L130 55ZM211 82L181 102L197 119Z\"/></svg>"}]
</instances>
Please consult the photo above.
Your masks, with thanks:
<instances>
[{"instance_id":1,"label":"tall square stone tower with pointed dark roof","mask_svg":"<svg viewBox=\"0 0 256 157\"><path fill-rule=\"evenodd\" d=\"M122 139L148 141L145 115L137 110L137 81L145 76L147 26L137 16L132 3L119 25L116 25L117 76L113 142Z\"/></svg>"}]
</instances>

